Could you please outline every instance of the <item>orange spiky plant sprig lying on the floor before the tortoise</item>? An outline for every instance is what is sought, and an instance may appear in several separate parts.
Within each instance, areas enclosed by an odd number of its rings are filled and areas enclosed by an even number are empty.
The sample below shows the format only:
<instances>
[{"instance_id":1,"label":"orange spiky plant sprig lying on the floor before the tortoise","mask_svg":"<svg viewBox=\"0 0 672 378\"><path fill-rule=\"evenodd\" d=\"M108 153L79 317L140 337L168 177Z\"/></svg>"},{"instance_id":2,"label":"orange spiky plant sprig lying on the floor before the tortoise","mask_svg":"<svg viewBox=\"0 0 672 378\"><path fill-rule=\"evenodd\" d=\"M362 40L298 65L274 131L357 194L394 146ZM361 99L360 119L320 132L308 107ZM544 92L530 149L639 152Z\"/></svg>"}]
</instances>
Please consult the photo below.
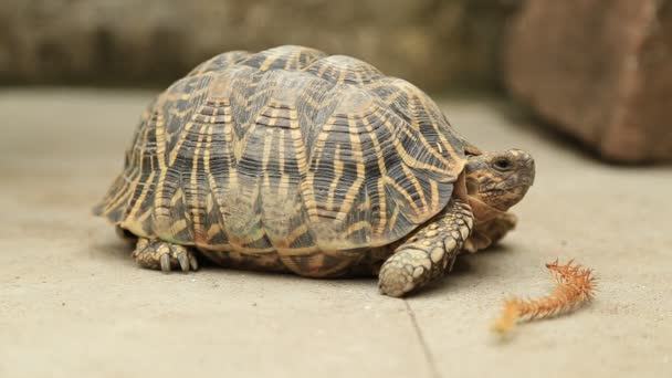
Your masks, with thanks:
<instances>
[{"instance_id":1,"label":"orange spiky plant sprig lying on the floor before the tortoise","mask_svg":"<svg viewBox=\"0 0 672 378\"><path fill-rule=\"evenodd\" d=\"M575 264L574 260L564 265L556 260L546 267L557 283L555 290L536 300L513 297L505 301L502 315L493 324L494 332L505 334L518 322L566 314L592 300L597 286L592 270Z\"/></svg>"}]
</instances>

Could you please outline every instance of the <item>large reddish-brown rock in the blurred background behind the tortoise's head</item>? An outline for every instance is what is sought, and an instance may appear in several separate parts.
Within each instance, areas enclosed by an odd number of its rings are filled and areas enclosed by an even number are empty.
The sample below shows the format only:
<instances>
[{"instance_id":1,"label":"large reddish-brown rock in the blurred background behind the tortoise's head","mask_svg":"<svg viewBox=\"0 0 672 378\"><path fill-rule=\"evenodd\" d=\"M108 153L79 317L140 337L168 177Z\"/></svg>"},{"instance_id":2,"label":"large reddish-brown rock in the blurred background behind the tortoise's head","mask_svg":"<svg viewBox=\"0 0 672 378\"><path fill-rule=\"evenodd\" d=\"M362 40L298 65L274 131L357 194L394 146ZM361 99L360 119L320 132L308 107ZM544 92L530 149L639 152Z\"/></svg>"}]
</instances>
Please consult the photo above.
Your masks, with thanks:
<instances>
[{"instance_id":1,"label":"large reddish-brown rock in the blurred background behind the tortoise's head","mask_svg":"<svg viewBox=\"0 0 672 378\"><path fill-rule=\"evenodd\" d=\"M515 96L605 158L672 159L672 1L527 1L504 61Z\"/></svg>"}]
</instances>

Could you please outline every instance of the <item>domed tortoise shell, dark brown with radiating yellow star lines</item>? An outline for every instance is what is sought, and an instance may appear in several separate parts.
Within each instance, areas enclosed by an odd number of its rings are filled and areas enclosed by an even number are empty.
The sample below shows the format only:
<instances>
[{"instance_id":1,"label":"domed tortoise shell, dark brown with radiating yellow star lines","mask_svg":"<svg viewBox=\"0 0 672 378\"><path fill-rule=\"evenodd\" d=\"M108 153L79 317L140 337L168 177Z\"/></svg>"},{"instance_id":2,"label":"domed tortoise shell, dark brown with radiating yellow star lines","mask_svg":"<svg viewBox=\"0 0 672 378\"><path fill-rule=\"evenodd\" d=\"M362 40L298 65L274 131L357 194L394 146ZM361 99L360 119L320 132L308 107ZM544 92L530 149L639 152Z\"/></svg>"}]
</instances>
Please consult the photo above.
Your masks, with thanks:
<instances>
[{"instance_id":1,"label":"domed tortoise shell, dark brown with radiating yellow star lines","mask_svg":"<svg viewBox=\"0 0 672 378\"><path fill-rule=\"evenodd\" d=\"M203 251L338 261L441 211L465 141L412 84L280 46L200 64L144 113L95 212Z\"/></svg>"}]
</instances>

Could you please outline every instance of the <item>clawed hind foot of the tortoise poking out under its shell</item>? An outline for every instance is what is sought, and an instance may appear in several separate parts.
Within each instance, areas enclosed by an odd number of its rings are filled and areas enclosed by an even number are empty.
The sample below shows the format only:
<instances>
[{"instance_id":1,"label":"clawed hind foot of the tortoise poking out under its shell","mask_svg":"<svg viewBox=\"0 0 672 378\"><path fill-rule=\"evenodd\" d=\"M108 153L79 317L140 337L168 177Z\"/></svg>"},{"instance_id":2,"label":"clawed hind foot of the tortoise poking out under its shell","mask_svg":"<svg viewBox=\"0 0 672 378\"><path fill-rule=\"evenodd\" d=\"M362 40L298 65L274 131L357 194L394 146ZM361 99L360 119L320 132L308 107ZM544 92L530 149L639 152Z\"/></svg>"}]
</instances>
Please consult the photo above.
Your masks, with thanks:
<instances>
[{"instance_id":1,"label":"clawed hind foot of the tortoise poking out under its shell","mask_svg":"<svg viewBox=\"0 0 672 378\"><path fill-rule=\"evenodd\" d=\"M138 265L147 269L170 272L171 269L181 269L183 272L198 270L198 261L191 250L180 244L172 244L162 240L138 238L133 259Z\"/></svg>"}]
</instances>

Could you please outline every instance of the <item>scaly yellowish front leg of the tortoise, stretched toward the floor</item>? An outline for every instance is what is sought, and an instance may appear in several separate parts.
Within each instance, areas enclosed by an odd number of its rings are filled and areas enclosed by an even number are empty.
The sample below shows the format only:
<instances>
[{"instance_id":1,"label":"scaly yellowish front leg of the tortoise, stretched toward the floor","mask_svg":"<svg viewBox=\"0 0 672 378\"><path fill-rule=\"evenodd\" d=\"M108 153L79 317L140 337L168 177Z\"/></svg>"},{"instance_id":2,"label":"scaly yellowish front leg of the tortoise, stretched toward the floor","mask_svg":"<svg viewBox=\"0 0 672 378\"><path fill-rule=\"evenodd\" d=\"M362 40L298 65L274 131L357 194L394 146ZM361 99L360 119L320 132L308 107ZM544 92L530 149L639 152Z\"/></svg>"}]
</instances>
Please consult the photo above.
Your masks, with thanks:
<instances>
[{"instance_id":1,"label":"scaly yellowish front leg of the tortoise, stretched toward the floor","mask_svg":"<svg viewBox=\"0 0 672 378\"><path fill-rule=\"evenodd\" d=\"M469 204L453 199L441 214L423 224L382 264L380 292L402 296L452 269L473 224Z\"/></svg>"}]
</instances>

